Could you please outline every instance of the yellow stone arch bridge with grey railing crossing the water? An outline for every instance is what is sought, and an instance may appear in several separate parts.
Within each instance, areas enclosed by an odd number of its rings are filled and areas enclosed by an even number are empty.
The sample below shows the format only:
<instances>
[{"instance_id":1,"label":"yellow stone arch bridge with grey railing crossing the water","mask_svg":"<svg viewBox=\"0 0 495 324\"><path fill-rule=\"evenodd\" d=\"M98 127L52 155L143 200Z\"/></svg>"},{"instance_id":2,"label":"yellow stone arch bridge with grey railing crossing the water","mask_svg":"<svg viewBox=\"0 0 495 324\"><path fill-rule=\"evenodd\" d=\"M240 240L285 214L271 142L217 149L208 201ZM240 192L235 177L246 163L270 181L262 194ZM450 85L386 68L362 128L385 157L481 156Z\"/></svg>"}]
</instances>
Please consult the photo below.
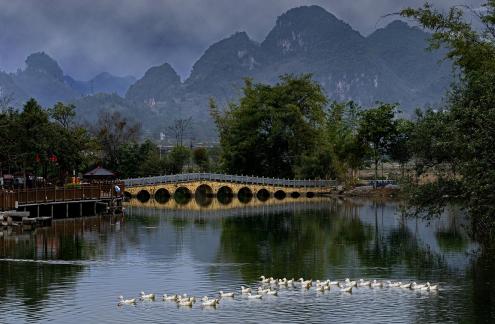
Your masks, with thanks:
<instances>
[{"instance_id":1,"label":"yellow stone arch bridge with grey railing crossing the water","mask_svg":"<svg viewBox=\"0 0 495 324\"><path fill-rule=\"evenodd\" d=\"M329 193L335 180L291 180L214 173L185 173L124 180L127 197L256 196L258 199L312 197Z\"/></svg>"}]
</instances>

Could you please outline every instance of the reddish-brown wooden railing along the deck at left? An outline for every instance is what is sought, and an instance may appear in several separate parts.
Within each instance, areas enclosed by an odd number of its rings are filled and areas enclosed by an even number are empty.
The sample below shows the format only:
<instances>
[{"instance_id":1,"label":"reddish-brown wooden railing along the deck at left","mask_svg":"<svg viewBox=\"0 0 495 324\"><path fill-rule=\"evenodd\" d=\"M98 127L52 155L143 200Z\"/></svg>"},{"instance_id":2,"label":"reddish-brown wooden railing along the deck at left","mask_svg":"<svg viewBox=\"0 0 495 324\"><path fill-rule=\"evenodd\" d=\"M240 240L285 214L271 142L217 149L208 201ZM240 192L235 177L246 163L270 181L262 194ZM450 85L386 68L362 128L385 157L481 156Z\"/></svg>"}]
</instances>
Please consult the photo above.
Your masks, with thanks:
<instances>
[{"instance_id":1,"label":"reddish-brown wooden railing along the deck at left","mask_svg":"<svg viewBox=\"0 0 495 324\"><path fill-rule=\"evenodd\" d=\"M11 210L26 205L103 200L122 197L124 185L118 183L121 191L115 191L116 184L82 185L77 188L43 187L32 189L0 190L0 210Z\"/></svg>"}]
</instances>

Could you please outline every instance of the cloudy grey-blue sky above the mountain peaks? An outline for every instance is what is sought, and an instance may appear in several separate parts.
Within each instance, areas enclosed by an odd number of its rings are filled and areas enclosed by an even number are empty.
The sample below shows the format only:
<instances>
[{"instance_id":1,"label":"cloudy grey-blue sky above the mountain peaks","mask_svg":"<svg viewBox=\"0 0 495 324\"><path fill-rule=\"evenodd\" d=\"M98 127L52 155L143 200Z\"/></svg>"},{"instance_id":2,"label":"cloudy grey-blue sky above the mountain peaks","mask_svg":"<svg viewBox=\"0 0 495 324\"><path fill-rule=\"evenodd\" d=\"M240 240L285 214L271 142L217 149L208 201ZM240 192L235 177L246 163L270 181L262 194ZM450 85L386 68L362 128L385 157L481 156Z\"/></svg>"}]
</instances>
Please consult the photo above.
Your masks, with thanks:
<instances>
[{"instance_id":1,"label":"cloudy grey-blue sky above the mountain peaks","mask_svg":"<svg viewBox=\"0 0 495 324\"><path fill-rule=\"evenodd\" d=\"M262 41L287 9L317 4L363 35L381 16L423 0L0 0L0 70L24 68L45 51L66 74L88 79L108 71L140 77L170 63L185 78L213 42L236 31ZM430 0L439 8L483 0Z\"/></svg>"}]
</instances>

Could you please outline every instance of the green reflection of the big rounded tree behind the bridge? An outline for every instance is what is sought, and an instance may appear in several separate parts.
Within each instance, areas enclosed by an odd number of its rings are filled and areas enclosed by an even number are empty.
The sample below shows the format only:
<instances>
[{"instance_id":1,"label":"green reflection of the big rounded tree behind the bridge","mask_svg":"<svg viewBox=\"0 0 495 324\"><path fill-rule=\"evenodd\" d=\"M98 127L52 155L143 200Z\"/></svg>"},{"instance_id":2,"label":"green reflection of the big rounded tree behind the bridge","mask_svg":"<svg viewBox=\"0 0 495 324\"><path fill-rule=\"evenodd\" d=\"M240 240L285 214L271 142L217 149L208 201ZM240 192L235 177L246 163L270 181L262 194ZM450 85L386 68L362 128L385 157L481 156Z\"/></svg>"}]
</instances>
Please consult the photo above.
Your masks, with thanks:
<instances>
[{"instance_id":1,"label":"green reflection of the big rounded tree behind the bridge","mask_svg":"<svg viewBox=\"0 0 495 324\"><path fill-rule=\"evenodd\" d=\"M332 204L330 210L224 219L219 257L243 263L246 280L260 274L322 278L330 265L344 263L345 250L370 238L359 218L346 217L352 209L341 211Z\"/></svg>"}]
</instances>

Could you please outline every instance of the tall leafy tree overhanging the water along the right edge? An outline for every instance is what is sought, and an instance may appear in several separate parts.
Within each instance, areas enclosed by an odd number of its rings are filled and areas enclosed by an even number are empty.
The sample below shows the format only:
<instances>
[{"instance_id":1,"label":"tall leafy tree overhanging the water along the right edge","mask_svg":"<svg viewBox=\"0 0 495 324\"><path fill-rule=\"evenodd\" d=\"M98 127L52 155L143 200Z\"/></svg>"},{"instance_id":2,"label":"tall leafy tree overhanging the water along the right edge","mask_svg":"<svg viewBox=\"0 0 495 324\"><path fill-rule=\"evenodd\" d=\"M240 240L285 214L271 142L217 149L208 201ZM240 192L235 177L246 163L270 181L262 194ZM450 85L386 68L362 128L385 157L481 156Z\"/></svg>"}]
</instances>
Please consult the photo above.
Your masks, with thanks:
<instances>
[{"instance_id":1,"label":"tall leafy tree overhanging the water along the right edge","mask_svg":"<svg viewBox=\"0 0 495 324\"><path fill-rule=\"evenodd\" d=\"M464 16L465 7L460 6L445 14L426 4L401 14L432 30L431 47L446 48L447 58L461 71L442 117L449 121L442 147L453 152L445 159L458 166L459 176L452 181L439 177L435 185L428 184L424 189L434 190L426 203L415 199L426 197L419 187L412 205L420 206L416 214L430 211L429 207L440 212L445 204L461 200L471 215L474 233L490 237L495 234L495 0L487 0L483 7L483 11L471 11L478 16L480 28L471 25ZM460 189L445 194L454 187Z\"/></svg>"}]
</instances>

